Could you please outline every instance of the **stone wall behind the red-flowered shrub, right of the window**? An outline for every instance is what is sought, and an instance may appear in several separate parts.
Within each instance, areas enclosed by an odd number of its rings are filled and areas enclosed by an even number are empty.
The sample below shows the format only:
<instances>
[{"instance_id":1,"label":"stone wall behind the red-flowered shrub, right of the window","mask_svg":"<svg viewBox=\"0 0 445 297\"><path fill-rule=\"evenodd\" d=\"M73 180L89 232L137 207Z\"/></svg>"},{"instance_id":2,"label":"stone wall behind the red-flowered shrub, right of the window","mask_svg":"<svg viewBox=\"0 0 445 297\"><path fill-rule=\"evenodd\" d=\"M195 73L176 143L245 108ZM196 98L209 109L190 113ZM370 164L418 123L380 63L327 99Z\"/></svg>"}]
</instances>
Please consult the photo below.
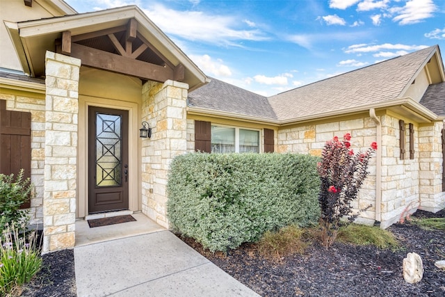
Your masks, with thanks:
<instances>
[{"instance_id":1,"label":"stone wall behind the red-flowered shrub, right of the window","mask_svg":"<svg viewBox=\"0 0 445 297\"><path fill-rule=\"evenodd\" d=\"M354 151L366 150L376 141L375 122L371 118L342 120L316 125L302 125L298 127L282 128L278 130L277 152L291 152L321 156L326 141L334 136L343 138L350 133L351 148ZM381 149L379 144L379 149ZM355 209L362 209L369 204L373 206L361 214L359 221L372 224L375 218L375 156L370 160L370 175L366 178L359 199L353 202Z\"/></svg>"}]
</instances>

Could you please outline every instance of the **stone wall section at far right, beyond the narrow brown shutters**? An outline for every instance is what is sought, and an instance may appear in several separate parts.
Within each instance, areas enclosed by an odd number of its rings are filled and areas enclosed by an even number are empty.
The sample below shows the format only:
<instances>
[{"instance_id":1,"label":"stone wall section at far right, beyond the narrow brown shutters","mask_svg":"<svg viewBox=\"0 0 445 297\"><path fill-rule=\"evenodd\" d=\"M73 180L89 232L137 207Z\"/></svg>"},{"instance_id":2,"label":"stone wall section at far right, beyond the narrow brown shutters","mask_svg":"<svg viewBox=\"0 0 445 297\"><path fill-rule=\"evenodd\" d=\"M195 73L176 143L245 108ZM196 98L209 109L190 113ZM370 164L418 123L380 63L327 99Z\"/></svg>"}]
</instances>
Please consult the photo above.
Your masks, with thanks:
<instances>
[{"instance_id":1,"label":"stone wall section at far right, beyond the narrow brown shutters","mask_svg":"<svg viewBox=\"0 0 445 297\"><path fill-rule=\"evenodd\" d=\"M442 192L442 129L444 122L419 127L420 206L419 209L437 212L445 207Z\"/></svg>"}]
</instances>

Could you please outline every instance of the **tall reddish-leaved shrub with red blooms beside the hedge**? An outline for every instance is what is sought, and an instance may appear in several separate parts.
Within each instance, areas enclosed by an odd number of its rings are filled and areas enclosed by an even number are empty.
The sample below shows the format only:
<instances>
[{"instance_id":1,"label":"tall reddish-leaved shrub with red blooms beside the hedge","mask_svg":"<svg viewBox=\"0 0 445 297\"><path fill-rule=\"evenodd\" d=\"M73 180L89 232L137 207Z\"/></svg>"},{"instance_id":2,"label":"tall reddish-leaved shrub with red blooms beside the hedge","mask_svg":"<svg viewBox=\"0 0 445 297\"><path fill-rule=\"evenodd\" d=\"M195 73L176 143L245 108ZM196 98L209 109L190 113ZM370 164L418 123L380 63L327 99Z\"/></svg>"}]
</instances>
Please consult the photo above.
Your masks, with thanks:
<instances>
[{"instance_id":1,"label":"tall reddish-leaved shrub with red blooms beside the hedge","mask_svg":"<svg viewBox=\"0 0 445 297\"><path fill-rule=\"evenodd\" d=\"M367 172L371 154L377 150L377 143L371 143L371 147L364 153L354 153L350 149L350 134L343 136L343 141L335 136L327 141L321 154L321 162L317 164L318 175L321 179L318 202L321 207L321 239L323 246L330 247L337 238L341 218L348 217L349 222L369 207L352 214L351 202L357 198L359 189Z\"/></svg>"}]
</instances>

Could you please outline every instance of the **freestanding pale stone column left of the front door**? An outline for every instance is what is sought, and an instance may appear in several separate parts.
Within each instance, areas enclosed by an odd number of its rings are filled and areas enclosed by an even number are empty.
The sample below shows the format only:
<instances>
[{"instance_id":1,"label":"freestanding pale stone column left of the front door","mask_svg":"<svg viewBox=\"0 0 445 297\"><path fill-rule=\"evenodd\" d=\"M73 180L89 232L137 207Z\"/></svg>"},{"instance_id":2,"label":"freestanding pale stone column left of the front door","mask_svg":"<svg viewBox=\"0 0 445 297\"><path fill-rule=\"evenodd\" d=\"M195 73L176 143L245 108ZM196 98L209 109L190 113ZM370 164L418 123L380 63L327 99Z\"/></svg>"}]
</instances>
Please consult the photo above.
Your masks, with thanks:
<instances>
[{"instance_id":1,"label":"freestanding pale stone column left of the front door","mask_svg":"<svg viewBox=\"0 0 445 297\"><path fill-rule=\"evenodd\" d=\"M43 250L74 247L79 69L77 58L46 54Z\"/></svg>"}]
</instances>

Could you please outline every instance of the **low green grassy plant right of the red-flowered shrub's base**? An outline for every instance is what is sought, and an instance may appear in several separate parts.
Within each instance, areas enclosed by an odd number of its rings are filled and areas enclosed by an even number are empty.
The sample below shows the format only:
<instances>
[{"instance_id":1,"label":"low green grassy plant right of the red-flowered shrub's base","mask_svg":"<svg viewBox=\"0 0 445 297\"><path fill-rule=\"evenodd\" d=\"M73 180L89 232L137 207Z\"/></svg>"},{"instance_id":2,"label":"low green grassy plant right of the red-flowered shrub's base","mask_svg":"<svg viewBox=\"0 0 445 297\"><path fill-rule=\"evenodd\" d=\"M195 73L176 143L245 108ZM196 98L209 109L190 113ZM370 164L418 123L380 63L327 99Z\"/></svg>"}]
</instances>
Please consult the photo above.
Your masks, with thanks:
<instances>
[{"instance_id":1,"label":"low green grassy plant right of the red-flowered shrub's base","mask_svg":"<svg viewBox=\"0 0 445 297\"><path fill-rule=\"evenodd\" d=\"M393 250L399 247L394 234L388 230L373 226L348 224L340 227L337 238L339 241L359 246L372 245L382 249L391 248Z\"/></svg>"}]
</instances>

